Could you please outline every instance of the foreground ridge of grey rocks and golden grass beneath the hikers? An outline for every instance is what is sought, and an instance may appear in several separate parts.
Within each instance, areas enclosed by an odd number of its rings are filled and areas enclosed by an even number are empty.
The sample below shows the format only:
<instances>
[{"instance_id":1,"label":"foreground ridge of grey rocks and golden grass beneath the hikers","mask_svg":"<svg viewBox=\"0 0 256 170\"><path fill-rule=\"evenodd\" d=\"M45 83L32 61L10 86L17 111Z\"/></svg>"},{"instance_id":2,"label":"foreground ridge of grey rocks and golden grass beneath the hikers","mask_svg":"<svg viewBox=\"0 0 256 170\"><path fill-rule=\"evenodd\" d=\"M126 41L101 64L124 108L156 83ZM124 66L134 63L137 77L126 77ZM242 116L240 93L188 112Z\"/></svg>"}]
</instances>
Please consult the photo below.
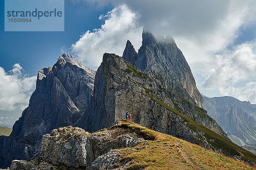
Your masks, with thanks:
<instances>
[{"instance_id":1,"label":"foreground ridge of grey rocks and golden grass beneath the hikers","mask_svg":"<svg viewBox=\"0 0 256 170\"><path fill-rule=\"evenodd\" d=\"M180 145L176 144L177 141ZM223 141L223 144L227 147L233 145L228 140ZM183 150L183 154L191 154L186 156L188 161L190 161L189 157L194 156L195 164L192 161L190 164L196 167L203 162L200 167L210 169L211 161L215 161L215 165L221 164L223 169L234 169L238 166L241 167L239 169L251 169L242 162L227 159L223 155L124 119L117 120L115 125L108 129L92 134L72 126L54 129L50 134L43 136L40 147L41 157L27 161L14 160L10 168L11 170L125 170L145 167L161 170L176 166L177 169L180 169L178 168L180 166L189 168L191 165L188 165L179 153L180 147L189 148ZM242 160L249 158L246 162L251 164L256 161L256 156L247 150L241 147L237 147L236 150L237 152L230 156ZM201 156L206 160L201 159ZM163 164L161 161L164 159L166 160ZM221 162L218 163L219 161ZM165 165L166 163L169 165Z\"/></svg>"}]
</instances>

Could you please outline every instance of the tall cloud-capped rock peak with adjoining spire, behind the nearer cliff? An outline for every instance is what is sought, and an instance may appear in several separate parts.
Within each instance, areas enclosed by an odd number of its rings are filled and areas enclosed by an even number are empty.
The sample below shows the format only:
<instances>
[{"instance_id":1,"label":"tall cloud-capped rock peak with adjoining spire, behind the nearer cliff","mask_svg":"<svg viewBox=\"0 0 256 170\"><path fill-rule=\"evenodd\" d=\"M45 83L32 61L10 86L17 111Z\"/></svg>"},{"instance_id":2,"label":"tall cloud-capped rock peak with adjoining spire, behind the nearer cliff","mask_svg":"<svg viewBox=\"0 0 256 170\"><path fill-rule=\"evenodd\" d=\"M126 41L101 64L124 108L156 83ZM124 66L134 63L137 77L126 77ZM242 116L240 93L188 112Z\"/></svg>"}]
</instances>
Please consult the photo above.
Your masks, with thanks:
<instances>
[{"instance_id":1,"label":"tall cloud-capped rock peak with adjoining spire, behind the nearer cliff","mask_svg":"<svg viewBox=\"0 0 256 170\"><path fill-rule=\"evenodd\" d=\"M138 54L128 41L122 57L144 73L154 71L160 74L189 102L202 108L203 99L195 85L195 79L173 38L156 38L147 31L143 31L142 37L143 42Z\"/></svg>"}]
</instances>

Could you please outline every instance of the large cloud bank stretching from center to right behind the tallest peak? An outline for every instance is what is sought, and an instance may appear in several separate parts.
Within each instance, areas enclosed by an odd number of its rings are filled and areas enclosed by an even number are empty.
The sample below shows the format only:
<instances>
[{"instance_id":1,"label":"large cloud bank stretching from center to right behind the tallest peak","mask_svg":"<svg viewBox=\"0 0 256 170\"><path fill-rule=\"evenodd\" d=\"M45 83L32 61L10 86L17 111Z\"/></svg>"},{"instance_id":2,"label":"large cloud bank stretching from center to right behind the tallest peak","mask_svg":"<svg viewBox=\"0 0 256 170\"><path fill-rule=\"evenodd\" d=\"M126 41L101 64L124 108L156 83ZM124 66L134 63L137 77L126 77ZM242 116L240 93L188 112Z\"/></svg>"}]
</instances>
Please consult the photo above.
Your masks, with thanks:
<instances>
[{"instance_id":1,"label":"large cloud bank stretching from center to right behind the tallest peak","mask_svg":"<svg viewBox=\"0 0 256 170\"><path fill-rule=\"evenodd\" d=\"M138 49L144 27L155 35L174 37L202 93L230 95L256 103L254 86L250 85L256 82L256 39L236 41L244 30L255 27L255 0L83 1L99 8L110 3L115 6L105 17L99 17L105 21L101 28L87 31L72 46L87 65L99 66L104 52L121 55L126 39ZM128 32L136 35L134 39L123 38L128 37Z\"/></svg>"}]
</instances>

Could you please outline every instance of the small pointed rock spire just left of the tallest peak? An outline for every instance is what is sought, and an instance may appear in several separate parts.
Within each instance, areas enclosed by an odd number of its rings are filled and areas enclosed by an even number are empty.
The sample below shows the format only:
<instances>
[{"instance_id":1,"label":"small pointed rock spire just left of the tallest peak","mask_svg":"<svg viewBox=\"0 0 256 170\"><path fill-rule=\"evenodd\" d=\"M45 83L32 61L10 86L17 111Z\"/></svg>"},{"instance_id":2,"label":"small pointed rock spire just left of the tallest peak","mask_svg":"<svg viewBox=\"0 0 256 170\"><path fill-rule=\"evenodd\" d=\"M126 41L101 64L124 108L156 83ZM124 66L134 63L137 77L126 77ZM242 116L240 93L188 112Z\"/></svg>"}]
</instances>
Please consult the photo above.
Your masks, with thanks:
<instances>
[{"instance_id":1,"label":"small pointed rock spire just left of the tallest peak","mask_svg":"<svg viewBox=\"0 0 256 170\"><path fill-rule=\"evenodd\" d=\"M138 54L129 40L126 42L125 51L123 52L122 57L132 65L134 65L134 62L138 59Z\"/></svg>"}]
</instances>

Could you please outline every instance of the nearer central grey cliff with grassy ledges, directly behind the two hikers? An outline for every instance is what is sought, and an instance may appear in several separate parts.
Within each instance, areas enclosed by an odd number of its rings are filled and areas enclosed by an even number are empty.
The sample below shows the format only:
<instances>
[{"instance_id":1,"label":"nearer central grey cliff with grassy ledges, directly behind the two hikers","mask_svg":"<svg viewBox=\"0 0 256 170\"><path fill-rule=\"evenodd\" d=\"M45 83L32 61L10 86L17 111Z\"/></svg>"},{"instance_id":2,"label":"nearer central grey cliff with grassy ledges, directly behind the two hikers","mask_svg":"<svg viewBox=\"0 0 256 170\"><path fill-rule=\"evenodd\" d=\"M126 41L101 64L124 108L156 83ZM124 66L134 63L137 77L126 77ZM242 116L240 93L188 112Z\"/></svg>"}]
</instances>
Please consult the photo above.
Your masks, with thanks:
<instances>
[{"instance_id":1,"label":"nearer central grey cliff with grassy ledges, directly behind the two hikers","mask_svg":"<svg viewBox=\"0 0 256 170\"><path fill-rule=\"evenodd\" d=\"M180 96L160 74L145 74L122 57L106 53L96 72L91 108L75 125L93 132L113 125L126 111L133 122L204 147L208 143L195 137L204 132L193 131L184 121L193 119L228 139L204 109Z\"/></svg>"}]
</instances>

